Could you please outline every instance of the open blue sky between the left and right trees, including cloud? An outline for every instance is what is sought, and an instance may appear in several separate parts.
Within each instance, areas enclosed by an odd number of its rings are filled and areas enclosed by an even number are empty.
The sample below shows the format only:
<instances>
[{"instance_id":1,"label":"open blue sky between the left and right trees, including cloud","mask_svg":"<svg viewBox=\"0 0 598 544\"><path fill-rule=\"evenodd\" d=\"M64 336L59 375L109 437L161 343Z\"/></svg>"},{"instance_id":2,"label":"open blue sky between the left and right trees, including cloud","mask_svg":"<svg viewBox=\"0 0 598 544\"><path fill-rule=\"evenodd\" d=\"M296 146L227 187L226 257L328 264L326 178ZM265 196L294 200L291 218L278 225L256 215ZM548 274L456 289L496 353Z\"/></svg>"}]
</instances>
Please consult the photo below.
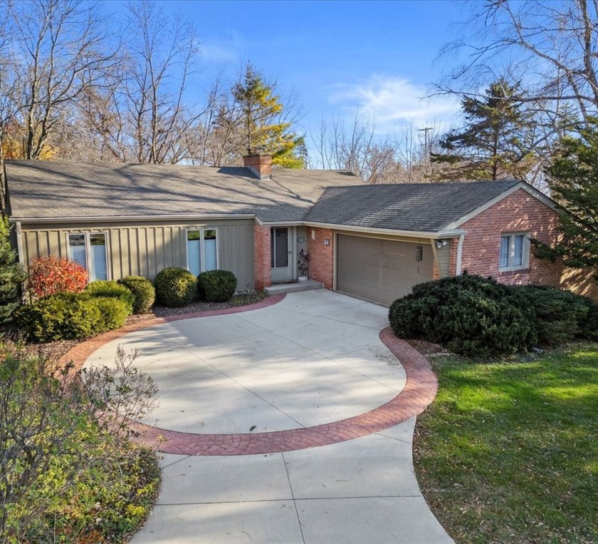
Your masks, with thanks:
<instances>
[{"instance_id":1,"label":"open blue sky between the left and right trees, including cloud","mask_svg":"<svg viewBox=\"0 0 598 544\"><path fill-rule=\"evenodd\" d=\"M402 123L456 120L448 98L422 102L429 83L444 73L436 57L463 20L458 1L160 1L180 10L201 41L197 91L227 66L234 77L243 62L266 79L294 89L303 105L298 130L320 120L373 116L381 135ZM113 4L115 5L115 4ZM202 86L204 88L202 89Z\"/></svg>"}]
</instances>

